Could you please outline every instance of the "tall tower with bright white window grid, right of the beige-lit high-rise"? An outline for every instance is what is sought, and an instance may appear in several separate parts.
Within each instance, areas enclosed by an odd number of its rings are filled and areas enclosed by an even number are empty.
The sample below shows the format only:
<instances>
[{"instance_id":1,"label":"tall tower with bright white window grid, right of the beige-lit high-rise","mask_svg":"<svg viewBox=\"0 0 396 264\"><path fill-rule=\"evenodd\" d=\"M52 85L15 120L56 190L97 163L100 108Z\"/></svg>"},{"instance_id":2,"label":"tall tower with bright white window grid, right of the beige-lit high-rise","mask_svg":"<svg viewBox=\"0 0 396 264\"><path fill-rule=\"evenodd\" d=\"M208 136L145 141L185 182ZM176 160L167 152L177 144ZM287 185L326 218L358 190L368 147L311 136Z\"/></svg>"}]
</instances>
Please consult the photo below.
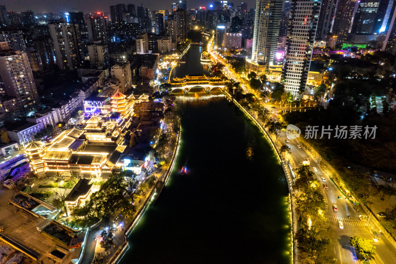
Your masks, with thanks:
<instances>
[{"instance_id":1,"label":"tall tower with bright white window grid, right of the beige-lit high-rise","mask_svg":"<svg viewBox=\"0 0 396 264\"><path fill-rule=\"evenodd\" d=\"M317 0L292 0L283 75L285 91L295 98L305 89L320 3Z\"/></svg>"}]
</instances>

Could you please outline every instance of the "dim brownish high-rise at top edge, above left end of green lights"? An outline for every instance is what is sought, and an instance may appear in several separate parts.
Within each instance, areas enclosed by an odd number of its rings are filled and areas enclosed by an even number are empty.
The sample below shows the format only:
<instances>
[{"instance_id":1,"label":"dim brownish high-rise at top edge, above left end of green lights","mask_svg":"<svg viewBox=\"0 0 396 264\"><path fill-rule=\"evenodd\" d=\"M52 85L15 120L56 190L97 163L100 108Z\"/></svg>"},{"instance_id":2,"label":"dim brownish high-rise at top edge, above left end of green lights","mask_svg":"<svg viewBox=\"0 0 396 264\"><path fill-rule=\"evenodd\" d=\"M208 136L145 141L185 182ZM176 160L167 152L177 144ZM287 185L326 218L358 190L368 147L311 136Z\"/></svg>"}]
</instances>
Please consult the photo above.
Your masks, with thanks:
<instances>
[{"instance_id":1,"label":"dim brownish high-rise at top edge, above left end of green lights","mask_svg":"<svg viewBox=\"0 0 396 264\"><path fill-rule=\"evenodd\" d=\"M338 0L333 14L334 22L330 33L337 35L338 42L345 42L350 33L353 10L357 0Z\"/></svg>"}]
</instances>

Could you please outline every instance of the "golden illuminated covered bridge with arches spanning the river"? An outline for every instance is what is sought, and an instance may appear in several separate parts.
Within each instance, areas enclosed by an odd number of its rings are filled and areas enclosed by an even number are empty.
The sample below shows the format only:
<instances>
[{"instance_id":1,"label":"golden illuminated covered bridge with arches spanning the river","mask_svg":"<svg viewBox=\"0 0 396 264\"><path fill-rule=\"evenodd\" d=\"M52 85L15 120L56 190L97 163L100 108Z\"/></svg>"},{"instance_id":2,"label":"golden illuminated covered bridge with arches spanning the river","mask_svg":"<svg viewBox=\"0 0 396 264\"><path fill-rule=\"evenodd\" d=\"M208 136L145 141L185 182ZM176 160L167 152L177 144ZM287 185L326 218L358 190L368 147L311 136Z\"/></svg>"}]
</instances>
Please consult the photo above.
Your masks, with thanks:
<instances>
[{"instance_id":1,"label":"golden illuminated covered bridge with arches spanning the river","mask_svg":"<svg viewBox=\"0 0 396 264\"><path fill-rule=\"evenodd\" d=\"M184 78L173 78L168 83L171 85L172 93L210 92L212 90L220 90L226 86L220 78L206 75L186 75Z\"/></svg>"}]
</instances>

